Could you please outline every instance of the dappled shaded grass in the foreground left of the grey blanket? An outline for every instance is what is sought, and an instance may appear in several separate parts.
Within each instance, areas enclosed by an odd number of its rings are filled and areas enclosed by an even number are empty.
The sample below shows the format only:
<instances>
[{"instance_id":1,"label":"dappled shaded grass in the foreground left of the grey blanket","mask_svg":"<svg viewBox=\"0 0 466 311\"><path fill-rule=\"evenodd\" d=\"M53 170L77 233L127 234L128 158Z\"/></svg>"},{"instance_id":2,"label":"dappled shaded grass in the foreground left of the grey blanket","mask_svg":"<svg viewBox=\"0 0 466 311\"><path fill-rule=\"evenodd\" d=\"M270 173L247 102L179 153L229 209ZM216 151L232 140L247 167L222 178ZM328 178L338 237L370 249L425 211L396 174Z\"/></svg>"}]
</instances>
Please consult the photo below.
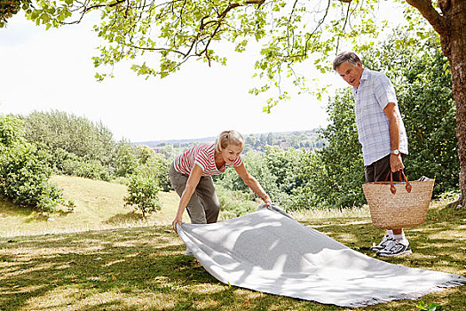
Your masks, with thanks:
<instances>
[{"instance_id":1,"label":"dappled shaded grass in the foreground left of the grey blanket","mask_svg":"<svg viewBox=\"0 0 466 311\"><path fill-rule=\"evenodd\" d=\"M183 255L185 246L169 227L20 237L14 243L0 240L0 248L1 310L319 306L218 282Z\"/></svg>"}]
</instances>

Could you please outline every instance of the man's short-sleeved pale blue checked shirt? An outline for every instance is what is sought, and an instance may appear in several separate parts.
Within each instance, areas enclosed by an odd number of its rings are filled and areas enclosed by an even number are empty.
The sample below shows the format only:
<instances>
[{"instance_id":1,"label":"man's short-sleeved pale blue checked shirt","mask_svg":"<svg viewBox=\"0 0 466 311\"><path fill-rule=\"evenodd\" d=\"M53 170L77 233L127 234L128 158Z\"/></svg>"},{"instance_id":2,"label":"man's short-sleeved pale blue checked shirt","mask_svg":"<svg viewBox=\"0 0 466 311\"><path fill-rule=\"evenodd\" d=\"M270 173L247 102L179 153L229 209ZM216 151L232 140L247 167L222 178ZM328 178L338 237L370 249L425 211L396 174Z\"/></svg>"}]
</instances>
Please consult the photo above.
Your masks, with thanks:
<instances>
[{"instance_id":1,"label":"man's short-sleeved pale blue checked shirt","mask_svg":"<svg viewBox=\"0 0 466 311\"><path fill-rule=\"evenodd\" d=\"M393 102L399 113L397 95L387 76L367 68L362 72L359 87L353 87L352 93L359 142L367 166L390 155L389 121L383 109ZM399 136L399 152L407 155L407 132L401 118Z\"/></svg>"}]
</instances>

